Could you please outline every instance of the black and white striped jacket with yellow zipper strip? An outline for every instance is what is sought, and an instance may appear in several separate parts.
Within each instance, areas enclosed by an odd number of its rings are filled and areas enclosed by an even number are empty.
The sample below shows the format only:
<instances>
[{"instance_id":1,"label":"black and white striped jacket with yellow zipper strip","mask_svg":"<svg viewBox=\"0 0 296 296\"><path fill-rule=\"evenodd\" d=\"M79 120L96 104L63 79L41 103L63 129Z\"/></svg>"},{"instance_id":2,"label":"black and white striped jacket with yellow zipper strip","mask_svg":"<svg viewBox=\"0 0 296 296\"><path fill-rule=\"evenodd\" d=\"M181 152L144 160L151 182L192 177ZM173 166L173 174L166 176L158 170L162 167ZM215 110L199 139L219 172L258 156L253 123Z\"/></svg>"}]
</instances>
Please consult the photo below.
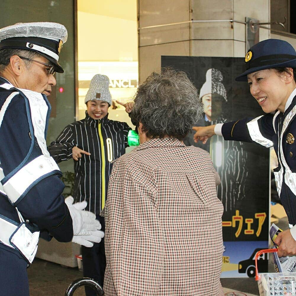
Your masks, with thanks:
<instances>
[{"instance_id":1,"label":"black and white striped jacket with yellow zipper strip","mask_svg":"<svg viewBox=\"0 0 296 296\"><path fill-rule=\"evenodd\" d=\"M86 112L85 119L66 126L48 147L57 163L72 158L74 146L91 153L74 160L73 197L76 202L86 200L87 210L96 215L105 204L111 162L125 153L130 129L125 122L109 120L108 115L94 120Z\"/></svg>"}]
</instances>

